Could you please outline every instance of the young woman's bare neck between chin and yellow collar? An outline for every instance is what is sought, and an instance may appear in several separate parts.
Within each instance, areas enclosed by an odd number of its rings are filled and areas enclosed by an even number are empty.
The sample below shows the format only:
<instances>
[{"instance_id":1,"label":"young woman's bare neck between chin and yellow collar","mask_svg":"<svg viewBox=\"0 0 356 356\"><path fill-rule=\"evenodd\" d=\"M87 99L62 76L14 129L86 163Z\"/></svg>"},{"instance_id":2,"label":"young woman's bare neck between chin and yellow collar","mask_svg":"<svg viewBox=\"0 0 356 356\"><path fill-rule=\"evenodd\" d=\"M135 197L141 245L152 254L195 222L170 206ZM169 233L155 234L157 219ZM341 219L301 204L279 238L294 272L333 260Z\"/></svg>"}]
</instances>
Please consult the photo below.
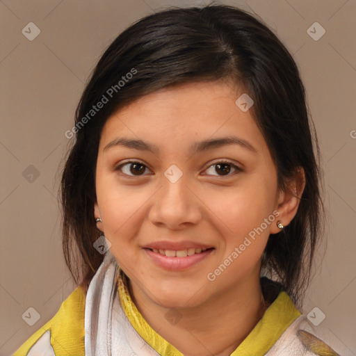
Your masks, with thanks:
<instances>
[{"instance_id":1,"label":"young woman's bare neck between chin and yellow collar","mask_svg":"<svg viewBox=\"0 0 356 356\"><path fill-rule=\"evenodd\" d=\"M147 323L184 356L229 356L269 306L256 272L196 307L176 308L181 319L175 325L165 318L168 309L149 300L131 280L129 291Z\"/></svg>"}]
</instances>

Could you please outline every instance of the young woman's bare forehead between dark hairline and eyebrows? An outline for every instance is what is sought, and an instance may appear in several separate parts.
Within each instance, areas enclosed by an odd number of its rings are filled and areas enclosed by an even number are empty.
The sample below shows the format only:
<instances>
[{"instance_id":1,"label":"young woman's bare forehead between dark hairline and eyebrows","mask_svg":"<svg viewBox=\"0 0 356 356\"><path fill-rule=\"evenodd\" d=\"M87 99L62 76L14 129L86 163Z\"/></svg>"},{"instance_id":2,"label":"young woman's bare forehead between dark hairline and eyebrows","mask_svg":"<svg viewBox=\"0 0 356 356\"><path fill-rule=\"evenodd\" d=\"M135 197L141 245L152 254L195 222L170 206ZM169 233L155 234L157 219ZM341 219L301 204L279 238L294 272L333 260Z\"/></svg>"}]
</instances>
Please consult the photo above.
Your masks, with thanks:
<instances>
[{"instance_id":1,"label":"young woman's bare forehead between dark hairline and eyebrows","mask_svg":"<svg viewBox=\"0 0 356 356\"><path fill-rule=\"evenodd\" d=\"M243 90L227 83L182 84L145 95L120 108L106 121L100 147L120 136L182 147L193 141L227 135L248 140L257 150L266 143L250 111L236 105Z\"/></svg>"}]
</instances>

